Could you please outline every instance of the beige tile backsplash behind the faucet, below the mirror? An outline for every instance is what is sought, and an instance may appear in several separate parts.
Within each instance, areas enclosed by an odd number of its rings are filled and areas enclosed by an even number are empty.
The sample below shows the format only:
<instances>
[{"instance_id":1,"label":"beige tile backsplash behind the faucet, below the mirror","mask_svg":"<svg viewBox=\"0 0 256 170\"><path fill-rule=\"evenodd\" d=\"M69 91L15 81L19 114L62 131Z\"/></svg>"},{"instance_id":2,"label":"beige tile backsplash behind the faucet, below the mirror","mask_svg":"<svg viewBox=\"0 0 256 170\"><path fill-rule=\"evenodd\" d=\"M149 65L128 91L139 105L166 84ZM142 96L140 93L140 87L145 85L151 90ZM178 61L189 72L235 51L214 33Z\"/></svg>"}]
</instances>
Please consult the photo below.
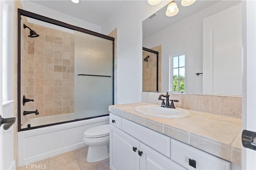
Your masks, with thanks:
<instances>
[{"instance_id":1,"label":"beige tile backsplash behind the faucet, below the mirror","mask_svg":"<svg viewBox=\"0 0 256 170\"><path fill-rule=\"evenodd\" d=\"M160 94L165 93L142 92L142 102L161 105L162 101L158 100ZM169 99L179 100L174 103L175 107L242 117L242 97L170 93Z\"/></svg>"}]
</instances>

